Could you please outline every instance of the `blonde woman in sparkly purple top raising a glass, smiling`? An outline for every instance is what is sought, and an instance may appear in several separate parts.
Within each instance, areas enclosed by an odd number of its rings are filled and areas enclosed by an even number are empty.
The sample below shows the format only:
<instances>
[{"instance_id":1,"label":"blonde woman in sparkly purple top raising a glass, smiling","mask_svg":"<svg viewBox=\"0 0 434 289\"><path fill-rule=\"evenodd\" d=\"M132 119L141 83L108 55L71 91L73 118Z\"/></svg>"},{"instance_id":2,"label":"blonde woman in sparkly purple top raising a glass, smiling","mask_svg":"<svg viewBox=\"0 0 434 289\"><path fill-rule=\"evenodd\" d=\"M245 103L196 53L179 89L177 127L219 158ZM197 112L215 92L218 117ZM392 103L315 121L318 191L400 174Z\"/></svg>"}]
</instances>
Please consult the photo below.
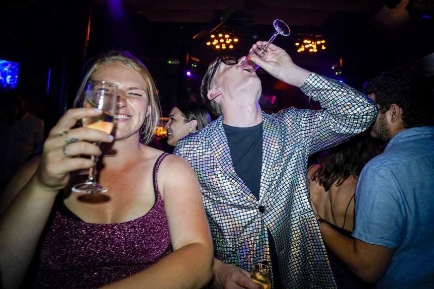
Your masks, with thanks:
<instances>
[{"instance_id":1,"label":"blonde woman in sparkly purple top raising a glass, smiling","mask_svg":"<svg viewBox=\"0 0 434 289\"><path fill-rule=\"evenodd\" d=\"M76 127L101 114L80 107L88 80L118 86L113 136ZM213 248L195 174L181 157L146 145L160 117L157 97L134 56L112 51L96 60L77 94L80 108L66 112L41 157L3 194L3 288L20 286L35 252L36 287L200 288L210 281ZM91 142L103 142L101 150ZM109 188L108 202L81 202L71 191L86 178L92 154L103 156L98 182Z\"/></svg>"}]
</instances>

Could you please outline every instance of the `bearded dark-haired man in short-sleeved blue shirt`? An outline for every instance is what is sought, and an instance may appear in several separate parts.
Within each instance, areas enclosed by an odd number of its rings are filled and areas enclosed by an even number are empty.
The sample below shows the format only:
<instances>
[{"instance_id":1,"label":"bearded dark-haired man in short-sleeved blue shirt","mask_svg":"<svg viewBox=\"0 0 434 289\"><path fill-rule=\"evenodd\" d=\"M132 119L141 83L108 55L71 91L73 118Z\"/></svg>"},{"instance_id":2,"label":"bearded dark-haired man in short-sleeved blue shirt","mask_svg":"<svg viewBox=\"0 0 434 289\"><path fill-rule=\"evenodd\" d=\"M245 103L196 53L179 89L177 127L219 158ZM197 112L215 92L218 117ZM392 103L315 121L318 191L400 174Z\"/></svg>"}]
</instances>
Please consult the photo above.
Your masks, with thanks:
<instances>
[{"instance_id":1,"label":"bearded dark-haired man in short-sleeved blue shirt","mask_svg":"<svg viewBox=\"0 0 434 289\"><path fill-rule=\"evenodd\" d=\"M388 144L359 176L354 239L320 220L324 242L378 288L434 288L432 87L406 69L377 76L365 92L379 108L371 136Z\"/></svg>"}]
</instances>

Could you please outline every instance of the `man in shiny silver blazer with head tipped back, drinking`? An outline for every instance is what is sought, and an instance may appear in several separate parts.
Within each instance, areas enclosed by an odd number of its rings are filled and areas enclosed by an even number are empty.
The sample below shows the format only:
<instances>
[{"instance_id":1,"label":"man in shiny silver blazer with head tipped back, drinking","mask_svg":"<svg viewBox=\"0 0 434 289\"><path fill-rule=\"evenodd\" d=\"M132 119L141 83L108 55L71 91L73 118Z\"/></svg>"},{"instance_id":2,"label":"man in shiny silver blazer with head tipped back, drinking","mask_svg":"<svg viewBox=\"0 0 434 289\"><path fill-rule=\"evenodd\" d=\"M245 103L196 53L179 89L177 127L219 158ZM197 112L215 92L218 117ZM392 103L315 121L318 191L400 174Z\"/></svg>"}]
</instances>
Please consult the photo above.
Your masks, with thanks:
<instances>
[{"instance_id":1,"label":"man in shiny silver blazer with head tipped back, drinking","mask_svg":"<svg viewBox=\"0 0 434 289\"><path fill-rule=\"evenodd\" d=\"M306 187L307 160L366 130L377 108L345 83L296 66L273 44L267 54L265 62L252 60L323 109L262 112L260 79L242 69L244 57L220 57L201 93L221 116L174 149L201 185L215 250L212 285L261 288L248 272L252 263L267 261L273 288L335 288Z\"/></svg>"}]
</instances>

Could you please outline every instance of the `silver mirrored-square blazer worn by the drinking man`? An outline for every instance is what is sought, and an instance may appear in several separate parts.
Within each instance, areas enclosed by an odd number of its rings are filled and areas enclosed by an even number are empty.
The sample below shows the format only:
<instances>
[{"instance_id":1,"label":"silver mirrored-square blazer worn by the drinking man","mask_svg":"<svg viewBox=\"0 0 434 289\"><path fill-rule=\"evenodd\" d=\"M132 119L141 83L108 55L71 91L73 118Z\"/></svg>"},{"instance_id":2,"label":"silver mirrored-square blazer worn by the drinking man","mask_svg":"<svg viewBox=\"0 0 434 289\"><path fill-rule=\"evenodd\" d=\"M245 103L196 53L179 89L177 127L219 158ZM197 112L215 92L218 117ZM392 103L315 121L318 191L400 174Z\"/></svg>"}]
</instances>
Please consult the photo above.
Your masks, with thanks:
<instances>
[{"instance_id":1,"label":"silver mirrored-square blazer worn by the drinking man","mask_svg":"<svg viewBox=\"0 0 434 289\"><path fill-rule=\"evenodd\" d=\"M301 89L323 109L262 113L259 200L235 173L223 117L180 140L174 153L190 163L199 179L216 258L250 272L252 262L270 260L268 228L285 288L335 288L310 205L307 160L367 129L377 108L361 92L316 73Z\"/></svg>"}]
</instances>

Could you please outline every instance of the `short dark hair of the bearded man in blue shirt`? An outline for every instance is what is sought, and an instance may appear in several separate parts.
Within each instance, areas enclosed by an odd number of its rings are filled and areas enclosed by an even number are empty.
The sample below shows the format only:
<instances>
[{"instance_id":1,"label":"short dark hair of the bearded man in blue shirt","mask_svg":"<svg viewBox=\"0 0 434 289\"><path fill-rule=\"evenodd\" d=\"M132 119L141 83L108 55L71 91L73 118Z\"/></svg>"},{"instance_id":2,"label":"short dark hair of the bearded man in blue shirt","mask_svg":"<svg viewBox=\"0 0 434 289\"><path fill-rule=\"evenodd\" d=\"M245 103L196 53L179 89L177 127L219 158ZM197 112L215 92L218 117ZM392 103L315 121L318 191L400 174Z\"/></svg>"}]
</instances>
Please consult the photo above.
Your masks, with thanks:
<instances>
[{"instance_id":1,"label":"short dark hair of the bearded man in blue shirt","mask_svg":"<svg viewBox=\"0 0 434 289\"><path fill-rule=\"evenodd\" d=\"M404 128L434 125L433 87L421 72L400 69L375 77L365 88L366 94L375 95L380 113L396 104L403 110Z\"/></svg>"}]
</instances>

